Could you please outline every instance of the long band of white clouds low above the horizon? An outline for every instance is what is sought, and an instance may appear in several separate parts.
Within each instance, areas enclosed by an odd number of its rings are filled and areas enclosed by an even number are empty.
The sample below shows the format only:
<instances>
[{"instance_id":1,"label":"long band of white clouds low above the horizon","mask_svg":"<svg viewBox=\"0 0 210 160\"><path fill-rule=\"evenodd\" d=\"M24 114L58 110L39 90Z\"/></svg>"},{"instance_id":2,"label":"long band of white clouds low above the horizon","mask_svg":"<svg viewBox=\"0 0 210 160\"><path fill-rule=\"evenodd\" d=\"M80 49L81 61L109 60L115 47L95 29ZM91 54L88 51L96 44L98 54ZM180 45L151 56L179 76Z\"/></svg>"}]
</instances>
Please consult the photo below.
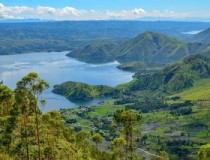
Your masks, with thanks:
<instances>
[{"instance_id":1,"label":"long band of white clouds low above the horizon","mask_svg":"<svg viewBox=\"0 0 210 160\"><path fill-rule=\"evenodd\" d=\"M54 20L106 20L106 19L140 19L143 17L166 17L166 18L187 18L187 17L210 17L210 11L199 13L175 12L172 10L145 11L143 8L131 10L79 10L71 6L53 8L48 6L5 6L0 3L0 19L39 18Z\"/></svg>"}]
</instances>

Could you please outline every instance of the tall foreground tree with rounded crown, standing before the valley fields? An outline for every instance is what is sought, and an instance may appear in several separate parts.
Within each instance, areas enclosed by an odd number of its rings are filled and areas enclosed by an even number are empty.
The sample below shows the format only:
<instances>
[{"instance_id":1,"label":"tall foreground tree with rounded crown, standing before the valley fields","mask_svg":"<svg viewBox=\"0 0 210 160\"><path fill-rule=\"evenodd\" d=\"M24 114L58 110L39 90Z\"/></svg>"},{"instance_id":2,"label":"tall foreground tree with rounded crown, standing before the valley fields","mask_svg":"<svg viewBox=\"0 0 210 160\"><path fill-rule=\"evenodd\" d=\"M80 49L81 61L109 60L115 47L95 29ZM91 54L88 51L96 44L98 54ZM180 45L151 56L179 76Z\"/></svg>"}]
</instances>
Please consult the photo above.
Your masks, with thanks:
<instances>
[{"instance_id":1,"label":"tall foreground tree with rounded crown, standing before the valley fields","mask_svg":"<svg viewBox=\"0 0 210 160\"><path fill-rule=\"evenodd\" d=\"M141 119L139 114L136 114L132 110L117 110L114 114L114 122L116 124L121 124L123 126L123 131L125 134L125 151L126 151L126 160L132 160L135 157L136 149L136 129L135 125Z\"/></svg>"}]
</instances>

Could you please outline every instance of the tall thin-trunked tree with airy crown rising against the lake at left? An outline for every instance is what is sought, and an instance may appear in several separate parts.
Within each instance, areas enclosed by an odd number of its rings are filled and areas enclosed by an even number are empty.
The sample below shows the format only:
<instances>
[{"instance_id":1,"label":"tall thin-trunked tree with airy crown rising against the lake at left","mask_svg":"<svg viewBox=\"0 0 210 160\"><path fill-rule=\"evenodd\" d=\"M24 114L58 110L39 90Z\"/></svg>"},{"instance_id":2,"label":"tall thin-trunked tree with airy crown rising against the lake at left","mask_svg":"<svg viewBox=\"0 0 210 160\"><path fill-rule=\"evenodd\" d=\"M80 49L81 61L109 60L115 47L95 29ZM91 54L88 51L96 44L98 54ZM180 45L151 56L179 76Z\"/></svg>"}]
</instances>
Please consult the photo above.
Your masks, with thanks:
<instances>
[{"instance_id":1,"label":"tall thin-trunked tree with airy crown rising against the lake at left","mask_svg":"<svg viewBox=\"0 0 210 160\"><path fill-rule=\"evenodd\" d=\"M32 111L35 114L35 123L36 123L36 139L38 145L38 157L41 160L41 149L40 149L40 135L39 135L39 117L38 117L38 101L39 96L42 92L49 88L49 84L41 79L37 73L30 72L24 76L20 81L17 82L16 88L16 101L19 104L22 104L22 112L24 113L25 123L27 123L28 114ZM25 98L23 98L24 96ZM26 126L26 125L25 125ZM24 129L27 132L27 129ZM29 153L27 148L27 157L29 159Z\"/></svg>"}]
</instances>

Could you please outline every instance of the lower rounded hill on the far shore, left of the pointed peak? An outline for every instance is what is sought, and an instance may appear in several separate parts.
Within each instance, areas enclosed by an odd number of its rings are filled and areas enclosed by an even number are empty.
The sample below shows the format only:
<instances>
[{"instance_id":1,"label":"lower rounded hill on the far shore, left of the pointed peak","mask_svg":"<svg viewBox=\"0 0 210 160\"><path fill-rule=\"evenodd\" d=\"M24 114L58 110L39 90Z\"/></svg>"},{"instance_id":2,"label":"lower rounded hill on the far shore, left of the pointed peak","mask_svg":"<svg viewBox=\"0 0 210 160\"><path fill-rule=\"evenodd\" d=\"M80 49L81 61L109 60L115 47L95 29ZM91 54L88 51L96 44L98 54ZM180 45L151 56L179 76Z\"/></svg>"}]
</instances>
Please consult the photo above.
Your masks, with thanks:
<instances>
[{"instance_id":1,"label":"lower rounded hill on the far shore, left of the pointed peak","mask_svg":"<svg viewBox=\"0 0 210 160\"><path fill-rule=\"evenodd\" d=\"M105 63L113 61L110 51L116 47L116 44L94 43L85 47L73 50L67 56L90 63Z\"/></svg>"}]
</instances>

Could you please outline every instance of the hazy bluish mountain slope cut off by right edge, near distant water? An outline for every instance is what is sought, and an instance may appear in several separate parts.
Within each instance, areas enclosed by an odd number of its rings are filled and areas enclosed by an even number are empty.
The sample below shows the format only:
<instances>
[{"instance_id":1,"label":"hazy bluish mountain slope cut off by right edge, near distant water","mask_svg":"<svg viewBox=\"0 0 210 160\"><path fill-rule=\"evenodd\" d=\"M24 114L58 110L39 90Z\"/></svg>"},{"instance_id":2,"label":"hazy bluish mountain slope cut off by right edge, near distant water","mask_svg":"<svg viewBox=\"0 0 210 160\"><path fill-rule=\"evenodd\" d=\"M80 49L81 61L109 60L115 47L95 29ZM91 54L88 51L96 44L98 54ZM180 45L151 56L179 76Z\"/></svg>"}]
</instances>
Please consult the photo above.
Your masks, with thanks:
<instances>
[{"instance_id":1,"label":"hazy bluish mountain slope cut off by right edge, near distant water","mask_svg":"<svg viewBox=\"0 0 210 160\"><path fill-rule=\"evenodd\" d=\"M200 43L210 43L210 28L192 36L189 39L189 41L200 42Z\"/></svg>"}]
</instances>

